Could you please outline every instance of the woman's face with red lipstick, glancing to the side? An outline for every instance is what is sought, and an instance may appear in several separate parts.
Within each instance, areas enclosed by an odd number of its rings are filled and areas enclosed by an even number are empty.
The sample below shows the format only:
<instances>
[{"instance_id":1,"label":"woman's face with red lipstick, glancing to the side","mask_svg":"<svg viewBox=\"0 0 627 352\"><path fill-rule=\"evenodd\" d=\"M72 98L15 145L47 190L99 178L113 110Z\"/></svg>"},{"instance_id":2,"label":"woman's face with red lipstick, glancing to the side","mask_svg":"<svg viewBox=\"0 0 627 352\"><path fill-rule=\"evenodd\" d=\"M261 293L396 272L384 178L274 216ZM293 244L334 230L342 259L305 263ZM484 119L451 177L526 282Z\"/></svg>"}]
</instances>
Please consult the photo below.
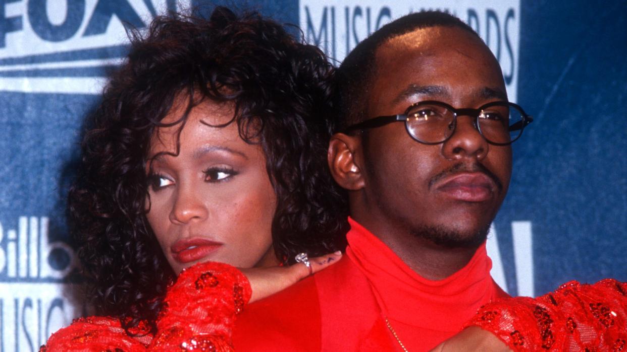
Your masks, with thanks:
<instances>
[{"instance_id":1,"label":"woman's face with red lipstick, glancing to the side","mask_svg":"<svg viewBox=\"0 0 627 352\"><path fill-rule=\"evenodd\" d=\"M179 99L162 122L179 119L186 101ZM236 123L201 122L232 117L228 104L206 101L191 110L180 138L177 124L150 140L147 218L177 274L201 261L240 268L277 263L271 247L277 197L261 147L243 141ZM177 139L178 155L162 154L176 154Z\"/></svg>"}]
</instances>

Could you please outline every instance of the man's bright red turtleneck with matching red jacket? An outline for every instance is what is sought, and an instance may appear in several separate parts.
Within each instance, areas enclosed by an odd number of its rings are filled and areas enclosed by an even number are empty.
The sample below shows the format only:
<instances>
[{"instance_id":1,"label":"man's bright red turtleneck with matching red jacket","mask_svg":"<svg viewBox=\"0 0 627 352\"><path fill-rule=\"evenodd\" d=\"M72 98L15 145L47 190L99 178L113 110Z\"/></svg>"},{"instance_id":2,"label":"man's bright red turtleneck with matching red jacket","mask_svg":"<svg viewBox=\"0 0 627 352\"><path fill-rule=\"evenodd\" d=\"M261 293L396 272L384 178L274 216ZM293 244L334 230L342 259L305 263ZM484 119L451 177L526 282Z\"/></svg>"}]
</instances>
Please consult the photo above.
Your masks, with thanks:
<instances>
[{"instance_id":1,"label":"man's bright red turtleneck with matching red jacket","mask_svg":"<svg viewBox=\"0 0 627 352\"><path fill-rule=\"evenodd\" d=\"M458 333L483 304L507 296L490 277L485 244L464 268L431 281L356 221L346 255L314 276L250 304L236 351L428 351Z\"/></svg>"}]
</instances>

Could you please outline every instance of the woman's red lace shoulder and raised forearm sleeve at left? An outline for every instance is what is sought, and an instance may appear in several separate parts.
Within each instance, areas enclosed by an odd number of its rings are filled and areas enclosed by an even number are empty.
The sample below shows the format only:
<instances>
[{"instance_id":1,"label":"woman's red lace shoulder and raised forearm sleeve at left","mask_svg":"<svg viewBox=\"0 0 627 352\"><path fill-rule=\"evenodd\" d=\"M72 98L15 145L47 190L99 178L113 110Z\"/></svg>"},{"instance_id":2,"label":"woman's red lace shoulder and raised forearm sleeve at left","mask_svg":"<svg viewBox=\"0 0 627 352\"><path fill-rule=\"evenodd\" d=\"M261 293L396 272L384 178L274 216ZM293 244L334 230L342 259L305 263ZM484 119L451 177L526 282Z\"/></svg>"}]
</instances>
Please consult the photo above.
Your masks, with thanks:
<instances>
[{"instance_id":1,"label":"woman's red lace shoulder and raised forearm sleeve at left","mask_svg":"<svg viewBox=\"0 0 627 352\"><path fill-rule=\"evenodd\" d=\"M235 316L250 296L248 279L232 266L196 264L168 289L154 336L143 324L132 337L118 319L92 316L52 334L40 351L233 351Z\"/></svg>"}]
</instances>

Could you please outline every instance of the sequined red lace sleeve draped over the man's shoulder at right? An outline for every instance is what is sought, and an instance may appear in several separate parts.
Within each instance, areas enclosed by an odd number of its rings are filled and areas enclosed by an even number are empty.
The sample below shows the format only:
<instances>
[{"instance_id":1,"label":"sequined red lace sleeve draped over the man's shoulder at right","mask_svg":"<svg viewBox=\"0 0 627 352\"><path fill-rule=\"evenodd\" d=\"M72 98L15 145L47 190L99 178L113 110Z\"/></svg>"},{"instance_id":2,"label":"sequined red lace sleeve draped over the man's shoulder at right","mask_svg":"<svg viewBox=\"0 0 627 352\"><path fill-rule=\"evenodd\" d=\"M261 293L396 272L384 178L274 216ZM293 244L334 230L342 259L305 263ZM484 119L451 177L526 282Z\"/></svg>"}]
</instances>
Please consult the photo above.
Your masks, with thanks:
<instances>
[{"instance_id":1,"label":"sequined red lace sleeve draped over the man's shoulder at right","mask_svg":"<svg viewBox=\"0 0 627 352\"><path fill-rule=\"evenodd\" d=\"M492 332L514 351L627 351L627 283L571 281L536 299L502 299L467 326Z\"/></svg>"}]
</instances>

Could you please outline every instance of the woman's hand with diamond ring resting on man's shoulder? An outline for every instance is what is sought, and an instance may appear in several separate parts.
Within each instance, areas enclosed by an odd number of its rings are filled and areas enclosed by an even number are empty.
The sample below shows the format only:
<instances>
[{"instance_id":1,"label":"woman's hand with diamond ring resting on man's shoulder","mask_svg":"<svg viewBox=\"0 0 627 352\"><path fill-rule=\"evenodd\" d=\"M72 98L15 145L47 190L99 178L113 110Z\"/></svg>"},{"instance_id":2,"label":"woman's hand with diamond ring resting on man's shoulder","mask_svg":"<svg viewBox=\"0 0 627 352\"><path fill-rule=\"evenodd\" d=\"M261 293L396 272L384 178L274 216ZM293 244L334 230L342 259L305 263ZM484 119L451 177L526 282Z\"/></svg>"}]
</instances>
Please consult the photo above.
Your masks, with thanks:
<instances>
[{"instance_id":1,"label":"woman's hand with diamond ring resting on man's shoulder","mask_svg":"<svg viewBox=\"0 0 627 352\"><path fill-rule=\"evenodd\" d=\"M312 266L312 274L337 263L340 258L342 258L342 253L337 251L325 256L309 259L309 263L311 263ZM296 263L292 266L275 266L272 268L240 269L240 271L246 275L246 278L248 278L250 282L250 287L253 290L253 295L248 303L253 303L271 294L275 294L278 291L282 291L310 274L307 266L302 263Z\"/></svg>"}]
</instances>

